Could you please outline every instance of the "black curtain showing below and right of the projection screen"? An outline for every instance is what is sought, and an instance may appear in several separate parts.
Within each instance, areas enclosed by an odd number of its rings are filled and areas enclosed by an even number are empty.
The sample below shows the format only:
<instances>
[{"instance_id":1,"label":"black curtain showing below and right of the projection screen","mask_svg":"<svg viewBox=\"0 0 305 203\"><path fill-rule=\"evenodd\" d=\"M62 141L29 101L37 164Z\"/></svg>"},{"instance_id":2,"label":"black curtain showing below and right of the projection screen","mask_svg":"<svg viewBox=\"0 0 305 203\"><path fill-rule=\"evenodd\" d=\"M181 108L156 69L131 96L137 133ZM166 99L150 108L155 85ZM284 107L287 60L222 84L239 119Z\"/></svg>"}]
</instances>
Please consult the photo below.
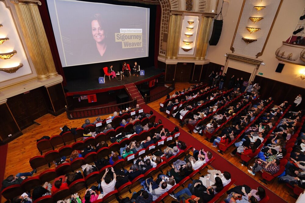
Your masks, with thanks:
<instances>
[{"instance_id":1,"label":"black curtain showing below and right of the projection screen","mask_svg":"<svg viewBox=\"0 0 305 203\"><path fill-rule=\"evenodd\" d=\"M121 2L121 1L88 1L88 2L101 2L101 3L109 3L115 5L129 5L129 6L138 6L145 7L150 9L150 17L149 17L149 54L148 57L144 58L134 58L125 60L127 64L130 65L130 68L134 66L134 62L137 61L138 65L140 65L141 69L145 69L146 67L152 67L154 65L154 54L155 54L155 31L156 31L156 12L157 6L160 5L149 5L149 4L141 4L141 3L132 3L132 2ZM113 13L113 15L117 15ZM160 26L160 23L158 23ZM122 70L123 61L109 61L105 63L95 63L95 64L87 64L87 65L77 65L77 66L69 66L64 67L63 71L65 74L66 81L76 80L76 79L96 79L99 76L104 76L103 67L109 67L113 65L113 70L115 72Z\"/></svg>"}]
</instances>

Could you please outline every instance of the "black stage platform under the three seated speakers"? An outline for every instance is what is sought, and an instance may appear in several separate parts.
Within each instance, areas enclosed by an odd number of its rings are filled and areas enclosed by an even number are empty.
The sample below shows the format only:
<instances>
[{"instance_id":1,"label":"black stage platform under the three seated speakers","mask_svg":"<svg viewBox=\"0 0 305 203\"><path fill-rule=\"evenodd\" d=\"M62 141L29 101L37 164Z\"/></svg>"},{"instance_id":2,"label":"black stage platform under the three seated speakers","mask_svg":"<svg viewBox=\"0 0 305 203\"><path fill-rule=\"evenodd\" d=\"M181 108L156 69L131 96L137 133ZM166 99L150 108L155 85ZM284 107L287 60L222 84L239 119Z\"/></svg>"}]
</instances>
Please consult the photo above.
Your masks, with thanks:
<instances>
[{"instance_id":1,"label":"black stage platform under the three seated speakers","mask_svg":"<svg viewBox=\"0 0 305 203\"><path fill-rule=\"evenodd\" d=\"M145 80L149 79L154 79L156 77L159 77L162 75L162 71L159 68L155 67L150 67L150 68L145 68L145 75L143 76L131 76L128 77L122 77L117 75L117 79L112 79L110 76L110 81L109 77L106 76L105 78L105 83L104 84L99 84L99 77L103 77L104 75L99 75L96 78L88 78L88 79L78 79L78 80L73 80L73 81L67 81L67 85L64 87L65 92L71 94L73 92L83 92L83 91L90 91L90 90L97 90L97 89L104 89L104 88L109 88L109 87L116 87L116 86L121 86L129 83L138 83L138 82L145 82Z\"/></svg>"}]
</instances>

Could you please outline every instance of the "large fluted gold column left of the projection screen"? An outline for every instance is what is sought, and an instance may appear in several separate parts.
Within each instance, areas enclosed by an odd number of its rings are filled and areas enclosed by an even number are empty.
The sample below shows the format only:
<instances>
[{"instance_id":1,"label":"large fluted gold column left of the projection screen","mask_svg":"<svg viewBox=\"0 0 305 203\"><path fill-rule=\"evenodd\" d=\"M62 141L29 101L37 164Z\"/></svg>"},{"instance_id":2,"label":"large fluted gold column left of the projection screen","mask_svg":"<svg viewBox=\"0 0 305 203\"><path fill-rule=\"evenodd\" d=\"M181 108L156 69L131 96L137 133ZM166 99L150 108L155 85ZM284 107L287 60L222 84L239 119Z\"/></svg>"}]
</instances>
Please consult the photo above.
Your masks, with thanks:
<instances>
[{"instance_id":1,"label":"large fluted gold column left of the projection screen","mask_svg":"<svg viewBox=\"0 0 305 203\"><path fill-rule=\"evenodd\" d=\"M12 0L11 2L15 4L37 78L47 79L49 76L58 75L38 10L41 2L38 0Z\"/></svg>"}]
</instances>

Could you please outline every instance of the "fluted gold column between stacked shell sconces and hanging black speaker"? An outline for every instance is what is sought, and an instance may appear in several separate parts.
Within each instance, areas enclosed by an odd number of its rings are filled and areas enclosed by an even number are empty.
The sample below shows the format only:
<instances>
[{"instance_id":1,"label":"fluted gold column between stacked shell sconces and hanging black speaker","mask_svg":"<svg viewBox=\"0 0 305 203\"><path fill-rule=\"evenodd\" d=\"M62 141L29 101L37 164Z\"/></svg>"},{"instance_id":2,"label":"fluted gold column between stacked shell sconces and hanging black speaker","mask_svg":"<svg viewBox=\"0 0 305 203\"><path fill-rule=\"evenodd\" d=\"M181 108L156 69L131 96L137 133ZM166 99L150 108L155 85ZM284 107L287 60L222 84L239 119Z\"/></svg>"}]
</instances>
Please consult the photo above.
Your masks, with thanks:
<instances>
[{"instance_id":1,"label":"fluted gold column between stacked shell sconces and hanging black speaker","mask_svg":"<svg viewBox=\"0 0 305 203\"><path fill-rule=\"evenodd\" d=\"M199 38L196 43L195 59L205 59L206 57L212 23L213 17L202 16L198 33Z\"/></svg>"}]
</instances>

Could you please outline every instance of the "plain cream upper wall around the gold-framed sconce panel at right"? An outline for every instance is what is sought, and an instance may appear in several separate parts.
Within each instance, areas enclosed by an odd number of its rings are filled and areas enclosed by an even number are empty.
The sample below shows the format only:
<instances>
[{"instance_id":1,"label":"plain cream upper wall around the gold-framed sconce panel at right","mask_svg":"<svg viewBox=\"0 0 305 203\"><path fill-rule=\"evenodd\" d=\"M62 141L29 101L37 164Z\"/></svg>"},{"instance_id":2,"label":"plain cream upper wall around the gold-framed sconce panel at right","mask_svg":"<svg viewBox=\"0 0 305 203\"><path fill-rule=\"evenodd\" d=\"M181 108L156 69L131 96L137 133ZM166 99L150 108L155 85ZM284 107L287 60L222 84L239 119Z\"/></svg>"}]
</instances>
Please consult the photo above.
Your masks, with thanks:
<instances>
[{"instance_id":1,"label":"plain cream upper wall around the gold-framed sconce panel at right","mask_svg":"<svg viewBox=\"0 0 305 203\"><path fill-rule=\"evenodd\" d=\"M243 2L242 0L228 1L229 7L227 15L224 16L224 25L222 28L221 38L217 46L209 46L206 55L206 58L210 59L211 62L221 65L225 64L226 57L224 54L231 53L230 46ZM258 70L258 72L263 73L262 77L305 88L305 81L301 80L299 77L300 72L305 70L305 67L279 61L275 58L274 54L277 48L282 45L282 41L287 40L291 36L295 29L296 23L299 21L300 14L302 13L304 7L304 0L293 0L293 3L291 0L283 1L277 19L274 23L271 35L265 47L264 53L261 57L259 57L259 59L262 59L266 64L265 66L260 65ZM245 46L247 45L245 44ZM285 63L285 67L282 73L275 72L278 63ZM232 67L231 65L229 66ZM240 66L232 68L242 70Z\"/></svg>"}]
</instances>

